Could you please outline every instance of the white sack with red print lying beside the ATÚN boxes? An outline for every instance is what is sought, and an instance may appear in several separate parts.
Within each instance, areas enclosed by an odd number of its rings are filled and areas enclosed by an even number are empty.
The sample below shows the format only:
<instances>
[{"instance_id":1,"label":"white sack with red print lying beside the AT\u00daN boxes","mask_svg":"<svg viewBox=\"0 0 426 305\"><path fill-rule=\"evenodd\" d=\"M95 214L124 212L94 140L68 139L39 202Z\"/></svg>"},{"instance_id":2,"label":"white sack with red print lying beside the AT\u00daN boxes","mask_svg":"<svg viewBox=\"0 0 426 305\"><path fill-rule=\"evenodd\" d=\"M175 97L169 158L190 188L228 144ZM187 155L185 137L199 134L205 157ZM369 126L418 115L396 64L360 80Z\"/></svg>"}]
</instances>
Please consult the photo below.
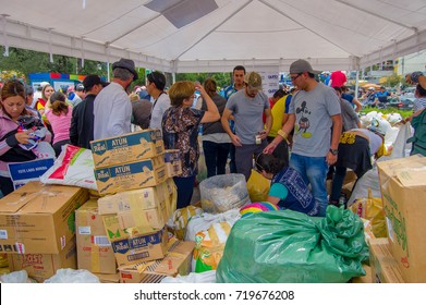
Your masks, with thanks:
<instances>
[{"instance_id":1,"label":"white sack with red print lying beside the AT\u00daN boxes","mask_svg":"<svg viewBox=\"0 0 426 305\"><path fill-rule=\"evenodd\" d=\"M92 150L65 145L53 166L40 176L41 183L80 186L97 191Z\"/></svg>"}]
</instances>

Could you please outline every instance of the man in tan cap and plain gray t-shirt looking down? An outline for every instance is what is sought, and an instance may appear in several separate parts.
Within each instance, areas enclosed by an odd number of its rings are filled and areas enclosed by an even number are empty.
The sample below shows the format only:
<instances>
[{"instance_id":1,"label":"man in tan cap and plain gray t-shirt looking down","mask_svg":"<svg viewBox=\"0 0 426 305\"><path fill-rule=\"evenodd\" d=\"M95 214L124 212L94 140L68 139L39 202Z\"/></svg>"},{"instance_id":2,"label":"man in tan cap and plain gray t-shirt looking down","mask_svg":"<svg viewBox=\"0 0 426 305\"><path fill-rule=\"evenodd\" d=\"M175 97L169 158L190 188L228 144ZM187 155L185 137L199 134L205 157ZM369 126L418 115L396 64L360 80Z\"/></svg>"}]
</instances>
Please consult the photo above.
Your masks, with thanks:
<instances>
[{"instance_id":1,"label":"man in tan cap and plain gray t-shirt looking down","mask_svg":"<svg viewBox=\"0 0 426 305\"><path fill-rule=\"evenodd\" d=\"M268 97L261 90L261 76L249 72L244 77L245 87L234 93L223 110L221 123L235 146L236 172L248 180L253 168L253 155L258 155L267 145L266 136L272 125L272 115ZM261 114L265 113L265 125ZM229 125L234 117L235 134Z\"/></svg>"}]
</instances>

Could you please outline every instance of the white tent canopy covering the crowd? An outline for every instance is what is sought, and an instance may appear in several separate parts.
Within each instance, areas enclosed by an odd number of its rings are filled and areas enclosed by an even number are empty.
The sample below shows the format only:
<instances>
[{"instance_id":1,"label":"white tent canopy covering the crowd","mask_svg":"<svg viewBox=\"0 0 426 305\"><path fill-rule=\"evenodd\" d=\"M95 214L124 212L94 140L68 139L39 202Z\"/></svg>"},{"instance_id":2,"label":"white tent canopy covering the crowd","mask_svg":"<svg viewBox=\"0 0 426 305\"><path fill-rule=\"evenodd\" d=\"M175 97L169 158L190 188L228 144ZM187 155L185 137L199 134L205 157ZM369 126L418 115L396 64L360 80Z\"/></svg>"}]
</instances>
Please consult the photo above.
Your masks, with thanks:
<instances>
[{"instance_id":1,"label":"white tent canopy covering the crowd","mask_svg":"<svg viewBox=\"0 0 426 305\"><path fill-rule=\"evenodd\" d=\"M360 70L426 49L425 0L13 0L0 44L166 72Z\"/></svg>"}]
</instances>

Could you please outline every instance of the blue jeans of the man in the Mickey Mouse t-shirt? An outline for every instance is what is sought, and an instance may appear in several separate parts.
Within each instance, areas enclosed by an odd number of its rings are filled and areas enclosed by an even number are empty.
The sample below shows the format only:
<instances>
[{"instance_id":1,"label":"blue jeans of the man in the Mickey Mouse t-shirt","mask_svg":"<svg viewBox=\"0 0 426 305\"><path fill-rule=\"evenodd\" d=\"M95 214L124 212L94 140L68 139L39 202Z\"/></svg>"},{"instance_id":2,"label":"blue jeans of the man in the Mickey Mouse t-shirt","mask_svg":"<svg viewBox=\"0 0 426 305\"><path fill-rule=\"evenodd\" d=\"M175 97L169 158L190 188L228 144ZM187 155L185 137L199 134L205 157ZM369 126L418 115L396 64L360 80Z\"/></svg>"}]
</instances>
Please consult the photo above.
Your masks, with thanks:
<instances>
[{"instance_id":1,"label":"blue jeans of the man in the Mickey Mouse t-shirt","mask_svg":"<svg viewBox=\"0 0 426 305\"><path fill-rule=\"evenodd\" d=\"M319 205L318 216L326 216L328 204L326 188L328 164L326 157L304 157L291 154L290 167L302 175L306 184L311 184L315 202Z\"/></svg>"}]
</instances>

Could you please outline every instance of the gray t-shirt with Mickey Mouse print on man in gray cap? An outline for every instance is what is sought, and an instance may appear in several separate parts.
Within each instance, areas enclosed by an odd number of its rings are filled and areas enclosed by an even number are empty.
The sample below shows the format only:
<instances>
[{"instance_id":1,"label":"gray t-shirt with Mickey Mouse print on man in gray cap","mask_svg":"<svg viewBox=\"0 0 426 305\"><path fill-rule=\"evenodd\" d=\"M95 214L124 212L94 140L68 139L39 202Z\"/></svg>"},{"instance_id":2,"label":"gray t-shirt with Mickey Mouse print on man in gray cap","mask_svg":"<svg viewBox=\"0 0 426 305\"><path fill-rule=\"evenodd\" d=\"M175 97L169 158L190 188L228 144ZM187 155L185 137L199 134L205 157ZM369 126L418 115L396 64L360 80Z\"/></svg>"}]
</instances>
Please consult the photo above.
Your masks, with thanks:
<instances>
[{"instance_id":1,"label":"gray t-shirt with Mickey Mouse print on man in gray cap","mask_svg":"<svg viewBox=\"0 0 426 305\"><path fill-rule=\"evenodd\" d=\"M297 91L289 113L296 117L292 152L305 157L325 157L331 144L331 115L340 114L334 89L318 83L311 91Z\"/></svg>"}]
</instances>

